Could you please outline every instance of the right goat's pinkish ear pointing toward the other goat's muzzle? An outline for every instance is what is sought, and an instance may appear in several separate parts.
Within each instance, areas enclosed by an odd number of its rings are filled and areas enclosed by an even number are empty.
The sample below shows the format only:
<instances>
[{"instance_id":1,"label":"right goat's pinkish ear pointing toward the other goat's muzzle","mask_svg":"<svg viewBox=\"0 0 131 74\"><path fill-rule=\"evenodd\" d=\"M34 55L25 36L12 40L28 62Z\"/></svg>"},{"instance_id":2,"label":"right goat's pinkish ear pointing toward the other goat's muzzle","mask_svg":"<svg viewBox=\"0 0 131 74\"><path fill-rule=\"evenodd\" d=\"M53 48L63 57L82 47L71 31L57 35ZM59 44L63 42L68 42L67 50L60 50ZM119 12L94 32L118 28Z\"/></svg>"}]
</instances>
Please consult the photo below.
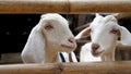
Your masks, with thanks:
<instances>
[{"instance_id":1,"label":"right goat's pinkish ear pointing toward the other goat's muzzle","mask_svg":"<svg viewBox=\"0 0 131 74\"><path fill-rule=\"evenodd\" d=\"M87 27L87 28L83 29L82 32L80 32L80 33L75 36L75 39L80 39L80 38L87 37L87 36L90 36L90 34L91 34L91 28Z\"/></svg>"}]
</instances>

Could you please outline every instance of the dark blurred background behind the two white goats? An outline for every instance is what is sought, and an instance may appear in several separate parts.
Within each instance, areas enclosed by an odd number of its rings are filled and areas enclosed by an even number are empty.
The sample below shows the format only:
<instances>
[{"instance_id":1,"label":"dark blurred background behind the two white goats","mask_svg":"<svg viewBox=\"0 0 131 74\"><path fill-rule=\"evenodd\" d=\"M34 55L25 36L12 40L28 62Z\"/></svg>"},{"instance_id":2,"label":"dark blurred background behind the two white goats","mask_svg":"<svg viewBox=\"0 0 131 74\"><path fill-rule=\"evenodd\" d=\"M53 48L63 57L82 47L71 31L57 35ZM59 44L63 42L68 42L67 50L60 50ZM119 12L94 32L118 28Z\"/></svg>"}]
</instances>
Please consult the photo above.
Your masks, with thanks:
<instances>
[{"instance_id":1,"label":"dark blurred background behind the two white goats","mask_svg":"<svg viewBox=\"0 0 131 74\"><path fill-rule=\"evenodd\" d=\"M25 46L32 28L39 22L41 14L0 14L0 64L22 63L21 52ZM94 13L88 14L61 14L70 24L74 36L86 27L95 17ZM106 15L106 14L103 14ZM126 26L131 32L131 16L120 18L120 25ZM79 60L80 48L88 38L78 42L74 51ZM116 51L117 60L130 60L131 50Z\"/></svg>"}]
</instances>

